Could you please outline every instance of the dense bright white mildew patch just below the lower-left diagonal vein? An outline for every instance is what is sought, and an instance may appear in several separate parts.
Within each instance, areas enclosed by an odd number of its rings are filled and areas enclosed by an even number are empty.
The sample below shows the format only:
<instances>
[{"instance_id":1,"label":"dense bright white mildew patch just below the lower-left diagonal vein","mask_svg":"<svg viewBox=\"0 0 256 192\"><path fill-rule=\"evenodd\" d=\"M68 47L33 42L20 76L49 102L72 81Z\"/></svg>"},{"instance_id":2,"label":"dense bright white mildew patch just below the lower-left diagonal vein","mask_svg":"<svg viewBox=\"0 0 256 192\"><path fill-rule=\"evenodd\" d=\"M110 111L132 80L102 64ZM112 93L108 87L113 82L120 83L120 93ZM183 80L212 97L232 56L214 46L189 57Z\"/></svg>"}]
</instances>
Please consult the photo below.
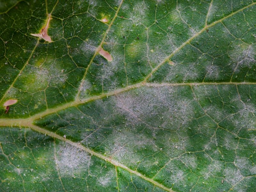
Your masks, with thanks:
<instances>
[{"instance_id":1,"label":"dense bright white mildew patch just below the lower-left diagonal vein","mask_svg":"<svg viewBox=\"0 0 256 192\"><path fill-rule=\"evenodd\" d=\"M90 156L85 151L66 143L56 153L55 162L61 174L74 175L88 169Z\"/></svg>"}]
</instances>

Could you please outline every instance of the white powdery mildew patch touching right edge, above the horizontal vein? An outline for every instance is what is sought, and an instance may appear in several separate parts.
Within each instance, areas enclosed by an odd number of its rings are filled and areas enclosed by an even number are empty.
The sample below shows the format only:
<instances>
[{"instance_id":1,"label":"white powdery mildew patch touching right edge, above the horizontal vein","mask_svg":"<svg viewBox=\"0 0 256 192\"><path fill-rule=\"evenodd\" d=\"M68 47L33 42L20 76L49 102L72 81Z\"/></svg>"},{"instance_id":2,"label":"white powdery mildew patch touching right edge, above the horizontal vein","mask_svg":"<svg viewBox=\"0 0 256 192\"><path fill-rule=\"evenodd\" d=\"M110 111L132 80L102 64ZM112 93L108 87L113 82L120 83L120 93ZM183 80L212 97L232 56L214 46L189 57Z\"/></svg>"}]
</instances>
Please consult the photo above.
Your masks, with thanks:
<instances>
[{"instance_id":1,"label":"white powdery mildew patch touching right edge, above the horizontal vein","mask_svg":"<svg viewBox=\"0 0 256 192\"><path fill-rule=\"evenodd\" d=\"M239 67L250 67L250 65L256 61L254 59L255 55L256 52L252 45L237 45L236 48L230 53L231 59L237 63L237 68L234 68L234 70L239 71Z\"/></svg>"}]
</instances>

